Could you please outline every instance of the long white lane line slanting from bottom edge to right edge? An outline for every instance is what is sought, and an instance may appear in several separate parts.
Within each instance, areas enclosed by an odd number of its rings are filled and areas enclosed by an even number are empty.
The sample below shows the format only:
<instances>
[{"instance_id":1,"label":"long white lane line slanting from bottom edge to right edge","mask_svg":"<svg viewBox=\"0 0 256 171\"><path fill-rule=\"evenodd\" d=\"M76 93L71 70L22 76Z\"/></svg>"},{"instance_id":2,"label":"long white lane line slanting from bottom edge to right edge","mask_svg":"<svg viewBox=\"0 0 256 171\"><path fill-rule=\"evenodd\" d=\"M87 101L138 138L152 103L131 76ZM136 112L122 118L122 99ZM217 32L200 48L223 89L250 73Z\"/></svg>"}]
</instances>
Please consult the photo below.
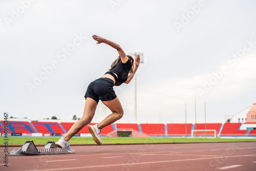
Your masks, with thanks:
<instances>
[{"instance_id":1,"label":"long white lane line slanting from bottom edge to right edge","mask_svg":"<svg viewBox=\"0 0 256 171\"><path fill-rule=\"evenodd\" d=\"M152 161L152 162L138 162L138 163L130 163L130 164L129 163L122 163L122 164L105 164L105 165L94 165L94 166L81 166L81 167L47 168L47 169L40 169L40 171L74 170L74 169L83 169L83 168L130 166L130 165L137 165L137 164L155 164L155 163L193 161L193 160L207 160L207 159L230 158L230 157L245 157L245 156L253 156L253 155L207 157L207 158L198 158L198 159L166 160L166 161ZM24 170L24 171L34 171L34 170Z\"/></svg>"}]
</instances>

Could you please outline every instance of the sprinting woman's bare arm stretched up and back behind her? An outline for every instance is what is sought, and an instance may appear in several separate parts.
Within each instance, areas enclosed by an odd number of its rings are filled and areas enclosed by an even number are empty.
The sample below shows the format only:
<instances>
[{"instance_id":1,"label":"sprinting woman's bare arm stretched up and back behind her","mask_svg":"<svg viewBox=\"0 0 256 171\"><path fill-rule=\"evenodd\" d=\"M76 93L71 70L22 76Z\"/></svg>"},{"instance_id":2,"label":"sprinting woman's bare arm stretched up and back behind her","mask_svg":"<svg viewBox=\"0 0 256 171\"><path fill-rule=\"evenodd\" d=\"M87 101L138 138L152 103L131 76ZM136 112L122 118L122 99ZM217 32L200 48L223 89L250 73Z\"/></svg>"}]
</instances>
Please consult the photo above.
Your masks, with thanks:
<instances>
[{"instance_id":1,"label":"sprinting woman's bare arm stretched up and back behind her","mask_svg":"<svg viewBox=\"0 0 256 171\"><path fill-rule=\"evenodd\" d=\"M110 41L108 39L102 38L100 36L97 35L93 35L93 39L98 41L97 44L100 44L101 42L103 42L104 44L107 44L109 46L111 46L112 48L116 49L117 52L119 53L121 60L123 63L125 63L129 58L126 56L126 54L124 53L124 51L122 50L122 48L116 44L113 41Z\"/></svg>"}]
</instances>

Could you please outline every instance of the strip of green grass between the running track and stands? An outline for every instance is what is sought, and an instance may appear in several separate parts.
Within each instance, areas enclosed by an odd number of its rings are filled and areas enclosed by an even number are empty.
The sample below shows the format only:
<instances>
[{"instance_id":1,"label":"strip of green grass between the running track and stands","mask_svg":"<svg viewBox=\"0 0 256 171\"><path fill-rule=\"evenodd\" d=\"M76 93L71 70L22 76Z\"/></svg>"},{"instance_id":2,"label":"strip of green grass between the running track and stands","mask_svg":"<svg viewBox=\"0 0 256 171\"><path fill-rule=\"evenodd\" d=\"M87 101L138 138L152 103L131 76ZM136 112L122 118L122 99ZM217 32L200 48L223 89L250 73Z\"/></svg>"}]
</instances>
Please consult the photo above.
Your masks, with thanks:
<instances>
[{"instance_id":1,"label":"strip of green grass between the running track and stands","mask_svg":"<svg viewBox=\"0 0 256 171\"><path fill-rule=\"evenodd\" d=\"M0 142L5 142L0 137ZM8 137L8 145L22 145L26 141L34 141L35 144L46 144L48 141L57 142L60 137ZM116 143L188 143L188 142L241 142L256 141L256 139L240 138L132 138L132 137L102 137L103 144ZM96 144L90 137L73 137L70 144Z\"/></svg>"}]
</instances>

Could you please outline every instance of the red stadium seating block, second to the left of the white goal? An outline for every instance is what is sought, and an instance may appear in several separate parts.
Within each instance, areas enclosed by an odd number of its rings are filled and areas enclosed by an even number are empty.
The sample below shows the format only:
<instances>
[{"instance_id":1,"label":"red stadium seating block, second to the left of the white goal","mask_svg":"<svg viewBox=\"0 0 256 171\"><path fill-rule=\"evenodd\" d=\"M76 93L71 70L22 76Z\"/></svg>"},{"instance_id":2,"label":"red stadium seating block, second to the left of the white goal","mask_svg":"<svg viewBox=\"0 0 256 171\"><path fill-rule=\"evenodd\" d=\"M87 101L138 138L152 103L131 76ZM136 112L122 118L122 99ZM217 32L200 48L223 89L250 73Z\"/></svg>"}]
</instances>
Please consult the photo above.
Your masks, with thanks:
<instances>
[{"instance_id":1,"label":"red stadium seating block, second to the left of the white goal","mask_svg":"<svg viewBox=\"0 0 256 171\"><path fill-rule=\"evenodd\" d=\"M143 134L150 136L165 136L164 124L141 123L140 126Z\"/></svg>"}]
</instances>

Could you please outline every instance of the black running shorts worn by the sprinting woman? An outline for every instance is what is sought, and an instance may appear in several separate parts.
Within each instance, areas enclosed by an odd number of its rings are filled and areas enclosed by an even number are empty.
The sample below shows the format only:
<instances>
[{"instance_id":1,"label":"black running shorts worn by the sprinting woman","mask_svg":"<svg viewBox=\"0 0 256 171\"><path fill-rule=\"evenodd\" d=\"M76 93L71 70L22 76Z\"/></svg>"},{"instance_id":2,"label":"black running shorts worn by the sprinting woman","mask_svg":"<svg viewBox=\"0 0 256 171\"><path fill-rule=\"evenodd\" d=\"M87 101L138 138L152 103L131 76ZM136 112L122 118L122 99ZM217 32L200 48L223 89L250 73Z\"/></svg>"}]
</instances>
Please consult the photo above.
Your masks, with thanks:
<instances>
[{"instance_id":1,"label":"black running shorts worn by the sprinting woman","mask_svg":"<svg viewBox=\"0 0 256 171\"><path fill-rule=\"evenodd\" d=\"M113 89L114 81L110 78L99 78L91 82L87 88L84 97L90 97L97 103L101 101L110 101L115 99L116 93Z\"/></svg>"}]
</instances>

